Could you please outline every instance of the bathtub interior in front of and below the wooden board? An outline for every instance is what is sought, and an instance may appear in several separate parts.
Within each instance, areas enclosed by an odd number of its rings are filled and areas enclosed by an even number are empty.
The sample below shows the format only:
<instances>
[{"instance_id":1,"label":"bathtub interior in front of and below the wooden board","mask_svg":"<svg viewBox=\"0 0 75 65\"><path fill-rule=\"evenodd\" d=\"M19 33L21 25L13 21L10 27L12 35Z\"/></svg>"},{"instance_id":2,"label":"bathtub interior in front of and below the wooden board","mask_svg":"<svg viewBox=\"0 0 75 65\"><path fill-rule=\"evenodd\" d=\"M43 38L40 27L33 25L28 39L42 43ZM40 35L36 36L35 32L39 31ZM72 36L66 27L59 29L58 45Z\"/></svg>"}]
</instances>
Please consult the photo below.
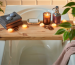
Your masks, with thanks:
<instances>
[{"instance_id":1,"label":"bathtub interior in front of and below the wooden board","mask_svg":"<svg viewBox=\"0 0 75 65\"><path fill-rule=\"evenodd\" d=\"M52 65L62 51L61 40L13 40L10 61L8 46L2 65Z\"/></svg>"}]
</instances>

